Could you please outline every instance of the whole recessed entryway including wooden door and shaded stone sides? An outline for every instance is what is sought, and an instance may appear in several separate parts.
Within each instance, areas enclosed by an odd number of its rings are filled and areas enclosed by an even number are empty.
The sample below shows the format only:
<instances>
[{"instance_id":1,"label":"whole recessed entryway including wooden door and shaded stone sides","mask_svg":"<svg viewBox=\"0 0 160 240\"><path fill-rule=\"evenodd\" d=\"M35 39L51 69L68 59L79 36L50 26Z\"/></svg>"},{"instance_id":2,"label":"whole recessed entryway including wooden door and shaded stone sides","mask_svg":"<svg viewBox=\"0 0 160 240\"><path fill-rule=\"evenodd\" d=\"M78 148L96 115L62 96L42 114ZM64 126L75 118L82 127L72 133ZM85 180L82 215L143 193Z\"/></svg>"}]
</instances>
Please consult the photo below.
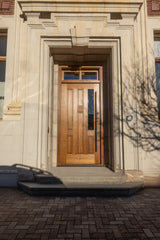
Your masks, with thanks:
<instances>
[{"instance_id":1,"label":"whole recessed entryway including wooden door and shaded stone sides","mask_svg":"<svg viewBox=\"0 0 160 240\"><path fill-rule=\"evenodd\" d=\"M113 128L117 128L118 122L113 125L112 94L115 92L112 90L112 80L115 78L112 78L112 73L115 69L115 76L117 65L112 65L111 48L51 48L50 53L48 170L70 165L105 166L114 170L118 150L114 150ZM94 103L91 112L88 111L89 98ZM99 108L97 129L95 107ZM73 113L72 117L69 117L70 112ZM74 122L76 119L80 121L80 118L83 121L80 124L77 122L76 126ZM64 121L68 120L69 128L74 123L76 131L67 129ZM80 135L82 132L84 137ZM80 144L76 143L75 138ZM118 137L116 144L119 146ZM118 162L120 161L118 158Z\"/></svg>"}]
</instances>

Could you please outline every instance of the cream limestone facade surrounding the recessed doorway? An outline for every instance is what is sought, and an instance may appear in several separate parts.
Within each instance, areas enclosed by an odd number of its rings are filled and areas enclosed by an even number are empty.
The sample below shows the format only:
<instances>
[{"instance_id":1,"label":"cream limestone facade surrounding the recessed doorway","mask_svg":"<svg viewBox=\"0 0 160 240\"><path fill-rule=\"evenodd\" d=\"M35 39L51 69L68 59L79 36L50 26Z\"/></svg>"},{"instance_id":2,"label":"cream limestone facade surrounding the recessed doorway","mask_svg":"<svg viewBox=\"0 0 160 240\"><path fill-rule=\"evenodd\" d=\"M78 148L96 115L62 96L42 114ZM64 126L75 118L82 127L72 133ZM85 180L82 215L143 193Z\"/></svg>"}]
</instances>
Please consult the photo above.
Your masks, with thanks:
<instances>
[{"instance_id":1,"label":"cream limestone facade surrounding the recessed doorway","mask_svg":"<svg viewBox=\"0 0 160 240\"><path fill-rule=\"evenodd\" d=\"M76 51L81 52L76 61L83 63L87 51L98 61L105 55L112 82L114 171L160 184L159 121L151 112L157 108L152 83L160 15L148 14L156 10L149 11L147 3L18 0L14 14L0 16L0 31L7 30L1 165L57 166L58 67Z\"/></svg>"}]
</instances>

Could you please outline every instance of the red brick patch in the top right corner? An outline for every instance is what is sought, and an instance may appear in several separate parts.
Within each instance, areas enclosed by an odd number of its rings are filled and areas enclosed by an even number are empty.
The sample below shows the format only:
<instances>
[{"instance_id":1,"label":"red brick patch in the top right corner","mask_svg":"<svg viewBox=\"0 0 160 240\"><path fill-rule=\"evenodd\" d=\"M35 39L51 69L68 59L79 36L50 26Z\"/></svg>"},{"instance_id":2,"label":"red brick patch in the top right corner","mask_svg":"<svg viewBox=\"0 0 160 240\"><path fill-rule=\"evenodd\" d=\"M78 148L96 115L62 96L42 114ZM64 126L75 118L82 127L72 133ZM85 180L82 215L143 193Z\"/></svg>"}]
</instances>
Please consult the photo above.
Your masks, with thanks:
<instances>
[{"instance_id":1,"label":"red brick patch in the top right corner","mask_svg":"<svg viewBox=\"0 0 160 240\"><path fill-rule=\"evenodd\" d=\"M149 16L160 16L160 1L147 0L147 10Z\"/></svg>"}]
</instances>

